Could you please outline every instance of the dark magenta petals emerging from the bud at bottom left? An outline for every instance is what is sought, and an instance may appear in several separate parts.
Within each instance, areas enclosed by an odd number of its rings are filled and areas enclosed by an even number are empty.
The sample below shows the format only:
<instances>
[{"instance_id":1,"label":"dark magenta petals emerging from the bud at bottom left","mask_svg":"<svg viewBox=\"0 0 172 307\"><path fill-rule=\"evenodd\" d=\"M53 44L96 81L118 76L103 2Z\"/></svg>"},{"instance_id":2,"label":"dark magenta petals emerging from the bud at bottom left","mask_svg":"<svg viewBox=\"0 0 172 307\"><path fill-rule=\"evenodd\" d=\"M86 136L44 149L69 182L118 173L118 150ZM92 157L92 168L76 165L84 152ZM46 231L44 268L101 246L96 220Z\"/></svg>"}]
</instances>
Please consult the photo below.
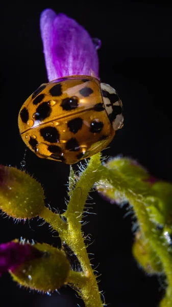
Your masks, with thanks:
<instances>
[{"instance_id":1,"label":"dark magenta petals emerging from the bud at bottom left","mask_svg":"<svg viewBox=\"0 0 172 307\"><path fill-rule=\"evenodd\" d=\"M8 242L0 245L0 276L8 270L13 271L24 261L40 257L42 253L30 244Z\"/></svg>"}]
</instances>

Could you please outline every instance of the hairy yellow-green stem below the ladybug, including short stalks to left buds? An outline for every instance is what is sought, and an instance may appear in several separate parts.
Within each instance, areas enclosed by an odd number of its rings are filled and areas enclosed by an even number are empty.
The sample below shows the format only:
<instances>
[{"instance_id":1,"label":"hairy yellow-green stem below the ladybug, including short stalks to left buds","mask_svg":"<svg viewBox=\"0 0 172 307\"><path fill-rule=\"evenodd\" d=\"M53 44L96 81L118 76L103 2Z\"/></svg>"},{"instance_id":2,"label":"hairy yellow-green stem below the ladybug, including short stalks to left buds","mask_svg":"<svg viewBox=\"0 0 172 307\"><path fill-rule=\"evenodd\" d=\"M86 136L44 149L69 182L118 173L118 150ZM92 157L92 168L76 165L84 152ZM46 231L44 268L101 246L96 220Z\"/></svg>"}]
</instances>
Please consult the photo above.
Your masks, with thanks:
<instances>
[{"instance_id":1,"label":"hairy yellow-green stem below the ladybug, including short stalks to left buds","mask_svg":"<svg viewBox=\"0 0 172 307\"><path fill-rule=\"evenodd\" d=\"M75 189L70 193L71 197L67 210L62 215L67 220L66 224L61 220L59 215L52 213L48 209L48 211L44 209L41 213L41 217L60 233L62 242L65 242L70 247L80 262L84 277L86 278L85 280L87 281L81 282L79 275L73 272L69 275L69 282L73 283L75 287L79 282L81 297L86 307L103 307L96 277L90 265L81 230L82 215L88 193L92 186L101 178L102 169L100 158L100 153L91 157Z\"/></svg>"}]
</instances>

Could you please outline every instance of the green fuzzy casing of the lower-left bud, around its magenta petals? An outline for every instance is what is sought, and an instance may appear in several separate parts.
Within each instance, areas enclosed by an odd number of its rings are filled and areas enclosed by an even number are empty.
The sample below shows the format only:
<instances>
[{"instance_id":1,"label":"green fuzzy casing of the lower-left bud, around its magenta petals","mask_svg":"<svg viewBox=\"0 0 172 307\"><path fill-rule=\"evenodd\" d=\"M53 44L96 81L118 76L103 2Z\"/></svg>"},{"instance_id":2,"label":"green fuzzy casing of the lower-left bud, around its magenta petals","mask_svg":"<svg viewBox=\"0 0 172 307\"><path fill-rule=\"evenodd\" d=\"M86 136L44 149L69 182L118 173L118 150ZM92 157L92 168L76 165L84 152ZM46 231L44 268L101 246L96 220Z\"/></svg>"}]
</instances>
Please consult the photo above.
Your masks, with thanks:
<instances>
[{"instance_id":1,"label":"green fuzzy casing of the lower-left bud, around its magenta petals","mask_svg":"<svg viewBox=\"0 0 172 307\"><path fill-rule=\"evenodd\" d=\"M63 251L47 244L35 244L41 257L30 259L15 269L11 275L22 286L48 292L59 289L67 282L69 261Z\"/></svg>"}]
</instances>

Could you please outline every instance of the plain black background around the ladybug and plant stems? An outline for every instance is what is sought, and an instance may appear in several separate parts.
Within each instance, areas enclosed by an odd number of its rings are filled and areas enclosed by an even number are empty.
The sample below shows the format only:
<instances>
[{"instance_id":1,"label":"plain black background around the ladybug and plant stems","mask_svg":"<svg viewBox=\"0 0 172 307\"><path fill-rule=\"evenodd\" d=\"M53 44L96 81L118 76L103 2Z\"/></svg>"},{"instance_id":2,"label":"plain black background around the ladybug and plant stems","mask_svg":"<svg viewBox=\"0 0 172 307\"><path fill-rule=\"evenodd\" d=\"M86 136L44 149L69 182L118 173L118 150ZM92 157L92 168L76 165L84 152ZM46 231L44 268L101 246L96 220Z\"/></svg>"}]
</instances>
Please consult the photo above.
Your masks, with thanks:
<instances>
[{"instance_id":1,"label":"plain black background around the ladybug and plant stems","mask_svg":"<svg viewBox=\"0 0 172 307\"><path fill-rule=\"evenodd\" d=\"M1 7L1 155L0 163L20 167L25 146L19 136L17 117L23 102L47 81L39 31L45 8L63 12L82 24L92 37L102 40L100 77L119 93L124 104L125 126L119 130L106 156L137 159L161 179L172 181L171 171L171 13L167 2L6 2ZM70 48L70 46L68 46ZM26 169L45 188L45 202L63 209L69 166L46 161L27 151ZM91 233L92 263L102 274L100 290L115 307L156 307L163 295L163 281L138 269L131 254L132 216L92 194L95 205L85 233ZM36 220L14 224L1 218L0 240L33 238L57 246L48 225ZM55 234L56 235L56 234ZM70 288L61 295L29 293L19 289L9 274L0 280L1 306L81 306Z\"/></svg>"}]
</instances>

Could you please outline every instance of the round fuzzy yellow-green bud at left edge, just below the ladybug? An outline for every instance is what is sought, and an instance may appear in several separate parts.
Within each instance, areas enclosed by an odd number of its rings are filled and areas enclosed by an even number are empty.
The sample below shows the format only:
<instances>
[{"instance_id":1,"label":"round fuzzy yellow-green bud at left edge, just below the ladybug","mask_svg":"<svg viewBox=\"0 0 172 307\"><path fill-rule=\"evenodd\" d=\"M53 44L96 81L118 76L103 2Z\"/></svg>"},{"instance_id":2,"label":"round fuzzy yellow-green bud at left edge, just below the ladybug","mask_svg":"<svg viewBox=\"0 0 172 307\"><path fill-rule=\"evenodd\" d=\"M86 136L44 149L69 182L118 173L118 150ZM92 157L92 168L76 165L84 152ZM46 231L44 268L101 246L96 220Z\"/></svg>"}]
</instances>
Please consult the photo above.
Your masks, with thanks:
<instances>
[{"instance_id":1,"label":"round fuzzy yellow-green bud at left edge, just below the ladybug","mask_svg":"<svg viewBox=\"0 0 172 307\"><path fill-rule=\"evenodd\" d=\"M0 209L14 218L32 218L44 208L41 185L15 167L0 165Z\"/></svg>"}]
</instances>

